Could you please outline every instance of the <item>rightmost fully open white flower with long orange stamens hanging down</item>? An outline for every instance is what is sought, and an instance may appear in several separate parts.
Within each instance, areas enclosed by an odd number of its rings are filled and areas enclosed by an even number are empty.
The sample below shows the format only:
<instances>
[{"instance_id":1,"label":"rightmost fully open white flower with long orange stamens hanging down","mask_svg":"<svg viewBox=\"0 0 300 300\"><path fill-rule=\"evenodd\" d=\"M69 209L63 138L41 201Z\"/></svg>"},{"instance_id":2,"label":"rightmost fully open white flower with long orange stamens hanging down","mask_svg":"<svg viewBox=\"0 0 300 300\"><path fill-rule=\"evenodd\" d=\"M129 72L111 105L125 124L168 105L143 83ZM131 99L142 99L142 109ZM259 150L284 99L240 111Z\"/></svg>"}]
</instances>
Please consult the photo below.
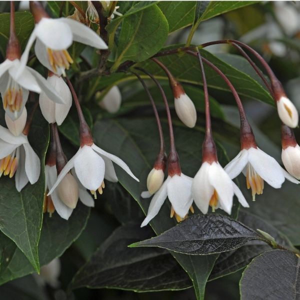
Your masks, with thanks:
<instances>
[{"instance_id":1,"label":"rightmost fully open white flower with long orange stamens hanging down","mask_svg":"<svg viewBox=\"0 0 300 300\"><path fill-rule=\"evenodd\" d=\"M252 198L263 191L263 180L274 188L280 188L285 178L299 183L279 163L258 147L242 149L225 167L229 177L235 178L241 171L246 176L247 188L252 189Z\"/></svg>"}]
</instances>

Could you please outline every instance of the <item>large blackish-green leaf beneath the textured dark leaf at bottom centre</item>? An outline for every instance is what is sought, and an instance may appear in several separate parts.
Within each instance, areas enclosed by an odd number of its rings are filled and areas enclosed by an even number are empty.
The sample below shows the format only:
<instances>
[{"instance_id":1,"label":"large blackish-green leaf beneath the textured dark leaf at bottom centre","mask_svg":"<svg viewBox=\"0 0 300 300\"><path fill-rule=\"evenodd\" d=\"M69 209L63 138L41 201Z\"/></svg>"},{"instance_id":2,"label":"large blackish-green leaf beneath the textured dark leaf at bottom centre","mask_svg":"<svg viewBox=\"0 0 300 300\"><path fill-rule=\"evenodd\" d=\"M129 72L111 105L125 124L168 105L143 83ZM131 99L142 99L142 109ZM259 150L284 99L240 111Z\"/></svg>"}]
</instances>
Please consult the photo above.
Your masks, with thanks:
<instances>
[{"instance_id":1,"label":"large blackish-green leaf beneath the textured dark leaf at bottom centre","mask_svg":"<svg viewBox=\"0 0 300 300\"><path fill-rule=\"evenodd\" d=\"M117 228L75 274L70 288L154 291L190 287L190 279L167 251L127 247L136 238L151 234L150 228L141 229L139 224L129 223Z\"/></svg>"}]
</instances>

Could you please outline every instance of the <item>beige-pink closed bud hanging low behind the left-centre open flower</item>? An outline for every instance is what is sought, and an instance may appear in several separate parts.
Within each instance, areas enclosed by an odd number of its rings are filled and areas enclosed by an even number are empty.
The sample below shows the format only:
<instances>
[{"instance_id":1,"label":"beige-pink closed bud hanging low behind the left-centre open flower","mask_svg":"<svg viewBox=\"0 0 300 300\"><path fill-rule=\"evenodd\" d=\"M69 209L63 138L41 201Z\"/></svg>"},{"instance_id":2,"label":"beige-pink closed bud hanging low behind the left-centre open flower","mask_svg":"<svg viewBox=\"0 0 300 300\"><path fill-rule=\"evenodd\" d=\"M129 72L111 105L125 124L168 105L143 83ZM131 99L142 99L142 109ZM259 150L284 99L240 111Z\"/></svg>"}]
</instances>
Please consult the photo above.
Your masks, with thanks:
<instances>
[{"instance_id":1,"label":"beige-pink closed bud hanging low behind the left-centre open flower","mask_svg":"<svg viewBox=\"0 0 300 300\"><path fill-rule=\"evenodd\" d=\"M78 197L79 187L76 179L71 173L66 173L57 186L57 193L60 200L68 207L75 208Z\"/></svg>"}]
</instances>

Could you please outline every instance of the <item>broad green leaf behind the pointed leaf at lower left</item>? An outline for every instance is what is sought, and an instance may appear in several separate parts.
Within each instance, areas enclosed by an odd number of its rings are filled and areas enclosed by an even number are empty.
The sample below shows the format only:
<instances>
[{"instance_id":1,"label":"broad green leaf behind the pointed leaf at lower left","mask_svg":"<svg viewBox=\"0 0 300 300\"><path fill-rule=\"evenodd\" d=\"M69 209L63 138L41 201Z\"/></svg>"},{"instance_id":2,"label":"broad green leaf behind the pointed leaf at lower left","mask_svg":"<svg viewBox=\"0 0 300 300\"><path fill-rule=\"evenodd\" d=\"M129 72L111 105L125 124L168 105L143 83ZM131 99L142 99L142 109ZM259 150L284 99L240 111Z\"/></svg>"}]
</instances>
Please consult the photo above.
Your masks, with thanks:
<instances>
[{"instance_id":1,"label":"broad green leaf behind the pointed leaf at lower left","mask_svg":"<svg viewBox=\"0 0 300 300\"><path fill-rule=\"evenodd\" d=\"M66 221L56 212L45 215L38 242L39 263L44 265L60 256L79 236L89 216L89 207L79 203ZM35 270L15 243L0 233L0 284Z\"/></svg>"}]
</instances>

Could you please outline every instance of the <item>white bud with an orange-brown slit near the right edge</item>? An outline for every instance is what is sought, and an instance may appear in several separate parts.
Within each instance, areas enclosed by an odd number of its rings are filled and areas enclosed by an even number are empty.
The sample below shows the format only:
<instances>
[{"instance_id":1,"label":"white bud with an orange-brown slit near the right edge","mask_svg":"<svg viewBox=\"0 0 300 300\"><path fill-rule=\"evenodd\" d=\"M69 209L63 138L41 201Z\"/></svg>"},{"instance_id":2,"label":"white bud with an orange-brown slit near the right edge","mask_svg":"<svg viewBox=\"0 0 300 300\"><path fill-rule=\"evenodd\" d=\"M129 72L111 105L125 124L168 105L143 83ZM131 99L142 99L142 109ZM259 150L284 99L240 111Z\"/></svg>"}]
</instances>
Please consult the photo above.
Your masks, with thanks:
<instances>
[{"instance_id":1,"label":"white bud with an orange-brown slit near the right edge","mask_svg":"<svg viewBox=\"0 0 300 300\"><path fill-rule=\"evenodd\" d=\"M298 125L298 111L294 104L284 96L277 101L278 115L281 121L288 127L295 128Z\"/></svg>"}]
</instances>

